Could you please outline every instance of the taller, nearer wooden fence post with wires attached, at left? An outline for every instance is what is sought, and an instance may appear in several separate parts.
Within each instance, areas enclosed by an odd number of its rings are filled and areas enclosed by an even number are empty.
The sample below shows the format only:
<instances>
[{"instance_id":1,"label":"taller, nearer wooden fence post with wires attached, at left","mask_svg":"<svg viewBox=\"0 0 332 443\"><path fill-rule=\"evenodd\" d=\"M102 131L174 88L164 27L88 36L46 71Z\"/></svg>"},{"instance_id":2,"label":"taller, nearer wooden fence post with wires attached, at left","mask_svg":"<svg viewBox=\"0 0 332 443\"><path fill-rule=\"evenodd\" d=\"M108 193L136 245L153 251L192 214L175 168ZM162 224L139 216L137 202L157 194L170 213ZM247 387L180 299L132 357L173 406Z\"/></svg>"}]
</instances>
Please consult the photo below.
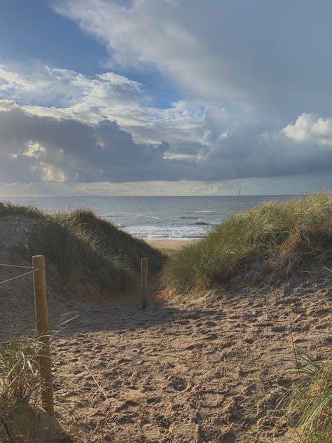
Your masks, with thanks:
<instances>
[{"instance_id":1,"label":"taller, nearer wooden fence post with wires attached, at left","mask_svg":"<svg viewBox=\"0 0 332 443\"><path fill-rule=\"evenodd\" d=\"M45 257L43 255L34 255L32 257L32 266L34 270L34 306L36 308L36 328L38 339L41 342L41 351L39 355L39 369L41 381L43 382L43 391L41 399L43 407L50 414L54 413L53 402L53 383L52 366L50 361L50 337L48 330L48 311L46 297L46 272Z\"/></svg>"}]
</instances>

